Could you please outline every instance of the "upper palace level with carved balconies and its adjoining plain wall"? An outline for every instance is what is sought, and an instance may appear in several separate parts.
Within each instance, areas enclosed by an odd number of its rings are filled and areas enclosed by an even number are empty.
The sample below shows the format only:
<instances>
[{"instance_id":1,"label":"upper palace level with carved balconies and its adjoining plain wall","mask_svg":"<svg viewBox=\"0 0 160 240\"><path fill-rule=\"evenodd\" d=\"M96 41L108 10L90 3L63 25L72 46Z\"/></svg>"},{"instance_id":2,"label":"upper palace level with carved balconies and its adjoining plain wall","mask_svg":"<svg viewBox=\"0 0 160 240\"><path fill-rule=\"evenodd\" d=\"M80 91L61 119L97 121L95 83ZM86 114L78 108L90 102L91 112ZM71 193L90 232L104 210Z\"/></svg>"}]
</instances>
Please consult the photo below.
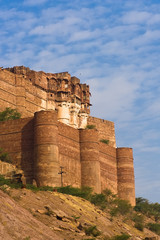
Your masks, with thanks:
<instances>
[{"instance_id":1,"label":"upper palace level with carved balconies and its adjoining plain wall","mask_svg":"<svg viewBox=\"0 0 160 240\"><path fill-rule=\"evenodd\" d=\"M36 72L24 66L0 68L0 109L16 108L22 117L57 110L58 120L83 128L90 113L89 86L68 72Z\"/></svg>"}]
</instances>

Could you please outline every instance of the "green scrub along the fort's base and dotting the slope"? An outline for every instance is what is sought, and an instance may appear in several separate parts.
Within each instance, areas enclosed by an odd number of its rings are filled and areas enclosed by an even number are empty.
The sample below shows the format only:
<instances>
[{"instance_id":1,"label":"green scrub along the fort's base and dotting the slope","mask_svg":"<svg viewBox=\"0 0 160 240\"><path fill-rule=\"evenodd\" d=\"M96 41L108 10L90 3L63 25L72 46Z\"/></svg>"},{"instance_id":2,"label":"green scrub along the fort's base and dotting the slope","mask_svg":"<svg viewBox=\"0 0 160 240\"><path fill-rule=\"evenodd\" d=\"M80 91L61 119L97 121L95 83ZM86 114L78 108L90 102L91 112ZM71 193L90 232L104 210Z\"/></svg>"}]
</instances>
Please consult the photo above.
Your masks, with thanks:
<instances>
[{"instance_id":1,"label":"green scrub along the fort's base and dotting the slope","mask_svg":"<svg viewBox=\"0 0 160 240\"><path fill-rule=\"evenodd\" d=\"M21 183L13 183L11 180L5 179L0 176L0 186L1 189L5 191L6 185L11 188L23 188ZM73 188L71 186L67 187L35 187L33 185L26 185L25 188L31 189L34 192L38 191L56 191L72 196L77 196L90 201L95 206L98 206L101 210L110 215L110 220L122 219L125 223L132 225L139 231L143 232L144 228L148 228L156 234L160 235L160 224L159 224L159 214L160 214L160 204L149 203L148 200L137 198L137 204L135 208L125 200L117 198L110 190L106 189L101 194L96 194L92 192L89 187L83 188ZM52 214L48 214L50 216ZM146 221L147 217L147 221ZM149 217L149 219L148 219ZM157 222L155 223L154 220ZM101 231L96 225L91 225L89 227L83 228L86 236L95 237L101 235ZM121 235L116 235L112 238L104 238L105 240L125 240L129 239L130 236L127 232ZM90 238L91 239L91 238Z\"/></svg>"}]
</instances>

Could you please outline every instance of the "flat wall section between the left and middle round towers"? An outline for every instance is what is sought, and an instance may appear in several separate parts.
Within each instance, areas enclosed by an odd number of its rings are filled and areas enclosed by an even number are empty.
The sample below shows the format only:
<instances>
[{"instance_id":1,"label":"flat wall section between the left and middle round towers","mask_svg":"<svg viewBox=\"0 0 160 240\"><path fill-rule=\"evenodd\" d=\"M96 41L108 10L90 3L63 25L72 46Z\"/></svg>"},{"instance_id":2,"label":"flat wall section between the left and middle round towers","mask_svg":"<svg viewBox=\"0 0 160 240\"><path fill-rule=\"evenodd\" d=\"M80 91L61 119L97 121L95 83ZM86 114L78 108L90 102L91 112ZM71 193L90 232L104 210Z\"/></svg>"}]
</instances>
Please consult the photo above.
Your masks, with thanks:
<instances>
[{"instance_id":1,"label":"flat wall section between the left and middle round towers","mask_svg":"<svg viewBox=\"0 0 160 240\"><path fill-rule=\"evenodd\" d=\"M64 186L81 187L79 131L63 123L58 124L60 166L64 167Z\"/></svg>"}]
</instances>

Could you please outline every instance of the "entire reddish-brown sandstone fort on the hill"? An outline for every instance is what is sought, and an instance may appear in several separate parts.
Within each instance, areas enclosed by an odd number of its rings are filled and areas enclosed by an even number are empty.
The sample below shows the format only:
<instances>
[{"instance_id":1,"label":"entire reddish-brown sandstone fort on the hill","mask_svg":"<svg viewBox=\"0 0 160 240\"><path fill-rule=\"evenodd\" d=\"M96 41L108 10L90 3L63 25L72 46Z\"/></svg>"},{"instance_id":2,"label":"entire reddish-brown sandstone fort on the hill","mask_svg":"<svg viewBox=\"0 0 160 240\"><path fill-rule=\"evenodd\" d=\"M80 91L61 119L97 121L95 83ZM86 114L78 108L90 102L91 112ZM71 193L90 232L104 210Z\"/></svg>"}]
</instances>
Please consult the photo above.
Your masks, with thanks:
<instances>
[{"instance_id":1,"label":"entire reddish-brown sandstone fort on the hill","mask_svg":"<svg viewBox=\"0 0 160 240\"><path fill-rule=\"evenodd\" d=\"M0 147L27 183L60 186L63 167L64 186L108 188L134 206L132 148L117 148L114 123L90 116L90 106L89 86L68 72L0 68L0 111L22 114L0 122Z\"/></svg>"}]
</instances>

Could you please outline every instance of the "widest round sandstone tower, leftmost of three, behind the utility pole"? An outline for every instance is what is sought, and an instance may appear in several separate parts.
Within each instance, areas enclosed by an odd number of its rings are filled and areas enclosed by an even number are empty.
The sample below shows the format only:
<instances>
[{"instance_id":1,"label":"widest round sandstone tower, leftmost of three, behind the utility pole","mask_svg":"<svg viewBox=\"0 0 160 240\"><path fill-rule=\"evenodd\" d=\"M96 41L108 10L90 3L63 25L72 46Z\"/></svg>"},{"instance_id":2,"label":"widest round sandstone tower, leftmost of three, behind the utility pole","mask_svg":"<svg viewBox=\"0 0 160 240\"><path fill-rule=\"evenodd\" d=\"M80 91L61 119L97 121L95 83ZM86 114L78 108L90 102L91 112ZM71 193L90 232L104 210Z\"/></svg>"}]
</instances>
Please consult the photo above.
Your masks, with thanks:
<instances>
[{"instance_id":1,"label":"widest round sandstone tower, leftmost of three, behind the utility pole","mask_svg":"<svg viewBox=\"0 0 160 240\"><path fill-rule=\"evenodd\" d=\"M60 186L57 114L35 113L34 178L38 186Z\"/></svg>"}]
</instances>

